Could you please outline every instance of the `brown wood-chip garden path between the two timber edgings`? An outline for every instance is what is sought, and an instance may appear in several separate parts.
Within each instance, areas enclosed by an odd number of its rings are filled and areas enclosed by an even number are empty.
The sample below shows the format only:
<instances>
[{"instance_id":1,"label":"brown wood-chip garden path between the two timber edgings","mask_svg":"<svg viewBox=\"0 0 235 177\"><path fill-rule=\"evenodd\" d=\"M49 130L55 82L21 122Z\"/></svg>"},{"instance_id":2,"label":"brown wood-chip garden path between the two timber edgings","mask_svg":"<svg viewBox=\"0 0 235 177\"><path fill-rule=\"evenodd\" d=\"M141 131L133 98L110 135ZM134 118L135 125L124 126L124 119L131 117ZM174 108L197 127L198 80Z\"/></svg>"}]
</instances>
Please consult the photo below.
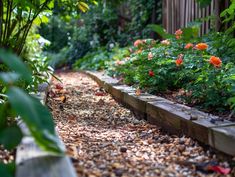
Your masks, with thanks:
<instances>
[{"instance_id":1,"label":"brown wood-chip garden path between the two timber edgings","mask_svg":"<svg viewBox=\"0 0 235 177\"><path fill-rule=\"evenodd\" d=\"M48 106L79 176L204 176L197 164L218 162L192 139L138 121L87 76L57 76L63 86L53 80Z\"/></svg>"}]
</instances>

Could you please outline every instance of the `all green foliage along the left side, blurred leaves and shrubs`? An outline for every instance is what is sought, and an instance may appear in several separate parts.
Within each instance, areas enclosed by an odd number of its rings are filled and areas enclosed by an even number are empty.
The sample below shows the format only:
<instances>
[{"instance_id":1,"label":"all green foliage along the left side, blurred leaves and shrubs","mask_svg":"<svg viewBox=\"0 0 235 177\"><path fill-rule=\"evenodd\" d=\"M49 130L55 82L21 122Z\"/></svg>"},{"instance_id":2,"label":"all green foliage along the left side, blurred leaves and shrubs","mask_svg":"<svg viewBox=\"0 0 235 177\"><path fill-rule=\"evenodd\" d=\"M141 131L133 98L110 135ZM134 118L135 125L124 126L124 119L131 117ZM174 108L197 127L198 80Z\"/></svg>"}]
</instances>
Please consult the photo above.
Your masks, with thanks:
<instances>
[{"instance_id":1,"label":"all green foliage along the left side, blurred leaves and shrubs","mask_svg":"<svg viewBox=\"0 0 235 177\"><path fill-rule=\"evenodd\" d=\"M28 94L36 93L38 84L50 74L47 58L42 56L48 41L37 34L37 27L48 22L54 4L60 7L66 4L75 16L79 9L87 11L89 3L96 1L0 0L0 144L4 148L13 150L21 142L23 134L16 121L20 118L42 149L63 155L50 112ZM20 117L16 119L17 116ZM14 163L1 163L0 173L13 176Z\"/></svg>"}]
</instances>

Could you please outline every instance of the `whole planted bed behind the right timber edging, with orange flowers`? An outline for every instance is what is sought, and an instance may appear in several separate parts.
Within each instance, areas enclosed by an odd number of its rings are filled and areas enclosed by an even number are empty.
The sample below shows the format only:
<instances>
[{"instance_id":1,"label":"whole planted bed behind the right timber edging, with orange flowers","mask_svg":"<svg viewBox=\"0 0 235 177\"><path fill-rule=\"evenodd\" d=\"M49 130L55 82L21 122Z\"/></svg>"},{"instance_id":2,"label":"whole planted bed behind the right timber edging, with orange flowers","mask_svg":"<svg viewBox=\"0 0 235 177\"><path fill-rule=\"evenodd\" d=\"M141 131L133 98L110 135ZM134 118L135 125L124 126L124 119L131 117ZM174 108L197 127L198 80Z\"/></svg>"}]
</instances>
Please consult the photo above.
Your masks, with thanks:
<instances>
[{"instance_id":1,"label":"whole planted bed behind the right timber edging, with orange flowers","mask_svg":"<svg viewBox=\"0 0 235 177\"><path fill-rule=\"evenodd\" d=\"M96 51L79 59L74 68L105 70L120 83L233 121L234 48L218 46L229 41L224 34L189 37L189 31L166 34L171 37L161 42L139 39L133 46L114 48L104 59L107 51Z\"/></svg>"}]
</instances>

